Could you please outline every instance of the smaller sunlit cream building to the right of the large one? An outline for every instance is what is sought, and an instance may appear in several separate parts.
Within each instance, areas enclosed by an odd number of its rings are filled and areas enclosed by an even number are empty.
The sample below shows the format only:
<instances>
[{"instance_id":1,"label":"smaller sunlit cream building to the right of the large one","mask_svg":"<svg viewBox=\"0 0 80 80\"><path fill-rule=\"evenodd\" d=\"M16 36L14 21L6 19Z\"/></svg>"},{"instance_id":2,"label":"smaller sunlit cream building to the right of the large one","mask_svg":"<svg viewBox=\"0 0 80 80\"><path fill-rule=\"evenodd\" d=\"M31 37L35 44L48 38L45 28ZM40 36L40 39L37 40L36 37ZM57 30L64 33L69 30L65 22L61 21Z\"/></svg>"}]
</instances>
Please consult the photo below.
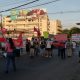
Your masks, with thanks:
<instances>
[{"instance_id":1,"label":"smaller sunlit cream building to the right of the large one","mask_svg":"<svg viewBox=\"0 0 80 80\"><path fill-rule=\"evenodd\" d=\"M62 25L60 20L50 20L50 34L60 34L62 32Z\"/></svg>"}]
</instances>

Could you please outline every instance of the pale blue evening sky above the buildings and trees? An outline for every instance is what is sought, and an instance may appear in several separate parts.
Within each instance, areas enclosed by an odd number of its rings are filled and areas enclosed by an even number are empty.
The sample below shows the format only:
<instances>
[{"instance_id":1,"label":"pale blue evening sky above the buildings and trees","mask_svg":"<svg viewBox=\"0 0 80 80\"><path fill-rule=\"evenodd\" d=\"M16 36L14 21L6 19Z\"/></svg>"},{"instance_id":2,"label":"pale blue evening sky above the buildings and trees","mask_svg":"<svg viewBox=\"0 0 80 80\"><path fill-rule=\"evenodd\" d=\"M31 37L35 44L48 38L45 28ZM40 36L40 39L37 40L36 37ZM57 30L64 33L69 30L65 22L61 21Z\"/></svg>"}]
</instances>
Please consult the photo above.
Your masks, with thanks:
<instances>
[{"instance_id":1,"label":"pale blue evening sky above the buildings and trees","mask_svg":"<svg viewBox=\"0 0 80 80\"><path fill-rule=\"evenodd\" d=\"M0 11L4 11L31 1L34 0L0 0ZM32 7L51 1L54 2L42 6ZM76 23L80 22L80 0L39 0L35 3L20 7L19 9L22 8L25 8L26 10L35 9L35 8L46 9L49 19L61 20L62 26L64 28L70 28L74 26L80 27L79 25L76 25ZM75 12L66 13L66 11L68 12L75 11ZM60 12L64 12L64 13L60 13ZM4 12L0 14L7 15L9 13L10 12Z\"/></svg>"}]
</instances>

